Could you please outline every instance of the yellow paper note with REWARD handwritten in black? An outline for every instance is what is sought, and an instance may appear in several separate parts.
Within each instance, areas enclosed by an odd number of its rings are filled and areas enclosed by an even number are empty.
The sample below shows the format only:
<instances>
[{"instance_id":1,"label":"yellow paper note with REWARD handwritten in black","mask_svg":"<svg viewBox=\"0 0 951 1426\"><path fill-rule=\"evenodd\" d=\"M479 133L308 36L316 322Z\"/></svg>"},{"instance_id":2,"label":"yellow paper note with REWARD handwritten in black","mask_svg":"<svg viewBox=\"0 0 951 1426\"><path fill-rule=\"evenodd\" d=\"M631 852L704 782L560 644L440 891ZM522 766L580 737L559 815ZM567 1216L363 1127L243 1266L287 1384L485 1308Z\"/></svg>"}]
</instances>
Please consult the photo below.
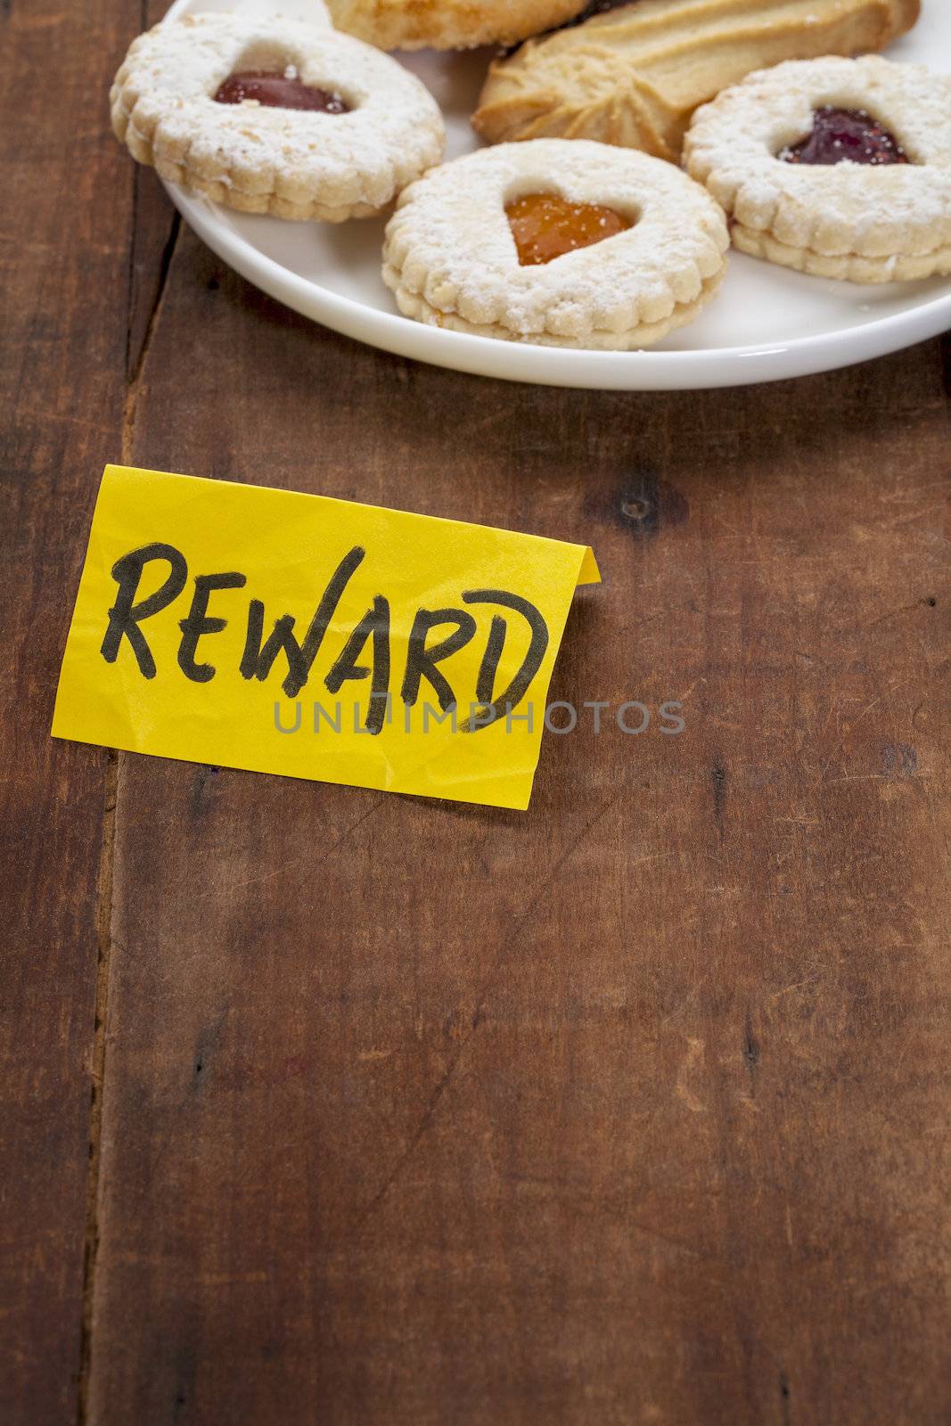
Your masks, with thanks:
<instances>
[{"instance_id":1,"label":"yellow paper note with REWARD handwritten in black","mask_svg":"<svg viewBox=\"0 0 951 1426\"><path fill-rule=\"evenodd\" d=\"M525 809L590 549L110 465L54 737Z\"/></svg>"}]
</instances>

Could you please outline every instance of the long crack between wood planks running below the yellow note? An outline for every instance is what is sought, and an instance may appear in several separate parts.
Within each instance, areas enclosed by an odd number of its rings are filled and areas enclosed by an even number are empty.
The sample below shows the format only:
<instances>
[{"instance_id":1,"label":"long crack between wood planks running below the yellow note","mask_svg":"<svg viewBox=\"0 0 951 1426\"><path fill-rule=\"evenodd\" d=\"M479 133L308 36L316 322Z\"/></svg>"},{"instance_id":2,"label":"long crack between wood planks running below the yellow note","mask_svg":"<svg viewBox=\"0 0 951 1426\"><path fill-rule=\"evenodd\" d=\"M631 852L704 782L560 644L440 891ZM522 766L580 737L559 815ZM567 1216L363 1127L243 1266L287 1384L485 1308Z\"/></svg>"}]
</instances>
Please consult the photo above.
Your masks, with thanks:
<instances>
[{"instance_id":1,"label":"long crack between wood planks running below the yellow note","mask_svg":"<svg viewBox=\"0 0 951 1426\"><path fill-rule=\"evenodd\" d=\"M93 1346L93 1306L96 1292L96 1259L98 1253L98 1181L103 1138L103 1082L106 1078L106 1041L108 1034L108 970L113 920L113 861L115 854L115 799L118 793L120 754L110 757L106 771L103 807L103 847L100 853L96 933L98 955L96 967L96 1021L93 1035L93 1064L90 1067L90 1138L86 1176L86 1242L83 1252L83 1323L80 1329L80 1373L76 1420L84 1426L88 1407L88 1386Z\"/></svg>"}]
</instances>

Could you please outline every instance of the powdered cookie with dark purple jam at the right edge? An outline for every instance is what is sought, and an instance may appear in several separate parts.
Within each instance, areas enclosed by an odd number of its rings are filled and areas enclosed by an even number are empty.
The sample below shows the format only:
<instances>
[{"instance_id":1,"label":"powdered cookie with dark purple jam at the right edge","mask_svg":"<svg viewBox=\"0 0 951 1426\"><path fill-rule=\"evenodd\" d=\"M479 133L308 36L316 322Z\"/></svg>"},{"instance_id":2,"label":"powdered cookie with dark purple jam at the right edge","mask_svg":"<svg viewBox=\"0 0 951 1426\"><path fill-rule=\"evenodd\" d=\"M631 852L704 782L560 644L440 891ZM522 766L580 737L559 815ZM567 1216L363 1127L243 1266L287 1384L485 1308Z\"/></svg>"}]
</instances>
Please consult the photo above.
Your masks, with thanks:
<instances>
[{"instance_id":1,"label":"powdered cookie with dark purple jam at the right edge","mask_svg":"<svg viewBox=\"0 0 951 1426\"><path fill-rule=\"evenodd\" d=\"M743 252L851 282L951 274L951 78L780 64L697 111L684 164Z\"/></svg>"}]
</instances>

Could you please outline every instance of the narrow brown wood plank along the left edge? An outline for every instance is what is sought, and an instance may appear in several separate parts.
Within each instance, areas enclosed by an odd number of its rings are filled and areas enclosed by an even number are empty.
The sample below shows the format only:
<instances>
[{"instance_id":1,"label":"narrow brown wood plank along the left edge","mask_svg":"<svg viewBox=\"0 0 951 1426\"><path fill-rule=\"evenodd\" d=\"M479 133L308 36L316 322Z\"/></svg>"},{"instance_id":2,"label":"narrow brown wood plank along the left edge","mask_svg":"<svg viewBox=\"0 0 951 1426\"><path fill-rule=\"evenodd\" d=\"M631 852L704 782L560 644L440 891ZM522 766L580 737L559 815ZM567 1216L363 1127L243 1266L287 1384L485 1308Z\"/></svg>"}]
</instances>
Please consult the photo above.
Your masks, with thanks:
<instances>
[{"instance_id":1,"label":"narrow brown wood plank along the left edge","mask_svg":"<svg viewBox=\"0 0 951 1426\"><path fill-rule=\"evenodd\" d=\"M121 442L133 181L101 141L121 9L9 0L0 14L0 1419L11 1426L77 1412L114 759L53 743L48 727L98 475Z\"/></svg>"}]
</instances>

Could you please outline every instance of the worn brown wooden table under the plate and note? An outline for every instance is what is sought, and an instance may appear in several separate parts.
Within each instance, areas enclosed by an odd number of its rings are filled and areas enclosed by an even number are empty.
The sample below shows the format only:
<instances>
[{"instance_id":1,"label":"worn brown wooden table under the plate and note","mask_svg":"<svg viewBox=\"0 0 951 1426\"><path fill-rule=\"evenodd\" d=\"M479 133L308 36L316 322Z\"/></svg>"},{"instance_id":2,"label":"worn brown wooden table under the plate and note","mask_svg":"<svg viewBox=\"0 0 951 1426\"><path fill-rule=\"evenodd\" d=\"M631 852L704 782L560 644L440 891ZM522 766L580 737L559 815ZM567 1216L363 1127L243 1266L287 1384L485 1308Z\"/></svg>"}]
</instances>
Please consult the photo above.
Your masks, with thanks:
<instances>
[{"instance_id":1,"label":"worn brown wooden table under the plate and note","mask_svg":"<svg viewBox=\"0 0 951 1426\"><path fill-rule=\"evenodd\" d=\"M358 347L110 138L150 10L0 16L0 1419L947 1422L951 348ZM590 542L553 696L686 733L549 736L528 814L54 743L110 459Z\"/></svg>"}]
</instances>

